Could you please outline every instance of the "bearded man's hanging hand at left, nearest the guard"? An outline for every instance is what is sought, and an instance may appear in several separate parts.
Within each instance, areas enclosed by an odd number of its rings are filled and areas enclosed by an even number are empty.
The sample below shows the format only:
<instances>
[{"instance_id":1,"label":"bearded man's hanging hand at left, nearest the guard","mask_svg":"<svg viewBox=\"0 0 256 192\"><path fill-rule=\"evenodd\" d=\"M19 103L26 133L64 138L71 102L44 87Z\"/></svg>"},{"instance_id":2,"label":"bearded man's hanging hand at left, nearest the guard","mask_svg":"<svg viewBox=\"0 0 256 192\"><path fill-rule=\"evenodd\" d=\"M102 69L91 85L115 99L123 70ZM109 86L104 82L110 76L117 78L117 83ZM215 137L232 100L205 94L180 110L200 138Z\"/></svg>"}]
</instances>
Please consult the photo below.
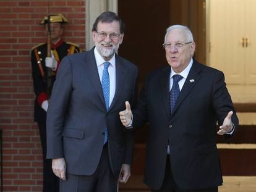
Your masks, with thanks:
<instances>
[{"instance_id":1,"label":"bearded man's hanging hand at left, nearest the guard","mask_svg":"<svg viewBox=\"0 0 256 192\"><path fill-rule=\"evenodd\" d=\"M51 167L57 177L66 180L66 161L64 158L53 159Z\"/></svg>"}]
</instances>

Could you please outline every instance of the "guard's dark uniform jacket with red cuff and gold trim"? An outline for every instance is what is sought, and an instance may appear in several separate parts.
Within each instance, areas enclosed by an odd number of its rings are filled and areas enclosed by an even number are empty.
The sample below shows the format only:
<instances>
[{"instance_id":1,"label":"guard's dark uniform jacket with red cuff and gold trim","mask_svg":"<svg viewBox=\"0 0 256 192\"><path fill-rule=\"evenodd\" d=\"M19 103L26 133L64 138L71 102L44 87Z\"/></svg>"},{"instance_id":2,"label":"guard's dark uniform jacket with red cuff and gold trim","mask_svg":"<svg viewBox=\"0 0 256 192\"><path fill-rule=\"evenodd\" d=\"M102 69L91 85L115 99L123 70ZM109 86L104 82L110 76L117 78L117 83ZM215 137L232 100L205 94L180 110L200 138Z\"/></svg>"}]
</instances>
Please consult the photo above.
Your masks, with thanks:
<instances>
[{"instance_id":1,"label":"guard's dark uniform jacket with red cuff and gold trim","mask_svg":"<svg viewBox=\"0 0 256 192\"><path fill-rule=\"evenodd\" d=\"M59 40L58 43L51 45L51 50L53 51L55 59L61 62L62 58L69 55L80 52L78 45L73 43L64 42ZM48 67L45 66L45 57L47 56L47 43L38 44L32 48L31 51L31 63L32 63L32 77L33 86L36 94L35 98L35 111L34 118L38 123L46 122L46 112L41 108L43 101L49 99L47 94L47 70ZM58 67L56 71L52 71L51 84L55 81L56 73L58 72ZM51 86L51 87L52 87Z\"/></svg>"}]
</instances>

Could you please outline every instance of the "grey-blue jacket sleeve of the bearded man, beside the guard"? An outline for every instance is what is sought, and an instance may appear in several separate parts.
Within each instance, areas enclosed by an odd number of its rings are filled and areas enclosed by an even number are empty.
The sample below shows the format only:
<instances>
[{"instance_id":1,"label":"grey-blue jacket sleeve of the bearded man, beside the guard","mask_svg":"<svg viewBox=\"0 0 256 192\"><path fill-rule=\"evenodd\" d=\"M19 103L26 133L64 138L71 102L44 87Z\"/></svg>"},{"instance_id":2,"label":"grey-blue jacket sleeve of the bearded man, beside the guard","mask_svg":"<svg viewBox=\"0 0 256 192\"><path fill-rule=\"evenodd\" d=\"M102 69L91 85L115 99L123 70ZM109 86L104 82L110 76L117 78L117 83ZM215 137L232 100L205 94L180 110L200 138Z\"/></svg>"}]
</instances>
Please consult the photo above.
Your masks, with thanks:
<instances>
[{"instance_id":1,"label":"grey-blue jacket sleeve of the bearded man, beside the guard","mask_svg":"<svg viewBox=\"0 0 256 192\"><path fill-rule=\"evenodd\" d=\"M56 81L54 82L46 118L47 158L64 157L62 131L64 119L72 91L72 69L69 59L61 61Z\"/></svg>"}]
</instances>

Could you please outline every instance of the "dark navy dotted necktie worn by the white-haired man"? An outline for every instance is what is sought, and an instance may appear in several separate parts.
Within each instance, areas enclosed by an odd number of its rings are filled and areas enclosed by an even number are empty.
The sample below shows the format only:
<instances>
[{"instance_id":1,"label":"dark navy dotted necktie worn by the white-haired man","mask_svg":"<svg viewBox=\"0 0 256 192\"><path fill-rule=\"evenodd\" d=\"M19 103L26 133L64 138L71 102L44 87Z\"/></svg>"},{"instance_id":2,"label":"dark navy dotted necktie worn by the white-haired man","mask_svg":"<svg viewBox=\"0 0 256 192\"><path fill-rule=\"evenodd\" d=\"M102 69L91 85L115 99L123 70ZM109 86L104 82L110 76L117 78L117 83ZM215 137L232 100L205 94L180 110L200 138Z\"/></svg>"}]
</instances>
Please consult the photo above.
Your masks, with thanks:
<instances>
[{"instance_id":1,"label":"dark navy dotted necktie worn by the white-haired man","mask_svg":"<svg viewBox=\"0 0 256 192\"><path fill-rule=\"evenodd\" d=\"M179 96L179 84L178 82L182 79L181 75L173 75L173 86L170 91L170 105L171 114L173 113L174 106L176 104L177 98Z\"/></svg>"}]
</instances>

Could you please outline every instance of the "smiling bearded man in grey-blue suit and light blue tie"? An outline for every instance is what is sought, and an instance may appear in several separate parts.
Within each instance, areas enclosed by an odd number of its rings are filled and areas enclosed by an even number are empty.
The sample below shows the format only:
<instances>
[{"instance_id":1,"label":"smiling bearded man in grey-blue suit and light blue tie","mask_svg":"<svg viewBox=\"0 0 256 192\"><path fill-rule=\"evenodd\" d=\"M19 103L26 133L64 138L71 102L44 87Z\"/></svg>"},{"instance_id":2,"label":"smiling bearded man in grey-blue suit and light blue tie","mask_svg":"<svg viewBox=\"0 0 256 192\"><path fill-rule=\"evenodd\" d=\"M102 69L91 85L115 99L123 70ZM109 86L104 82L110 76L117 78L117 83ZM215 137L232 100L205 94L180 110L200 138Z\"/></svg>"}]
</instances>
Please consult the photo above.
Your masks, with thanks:
<instances>
[{"instance_id":1,"label":"smiling bearded man in grey-blue suit and light blue tie","mask_svg":"<svg viewBox=\"0 0 256 192\"><path fill-rule=\"evenodd\" d=\"M134 135L119 111L135 104L138 70L116 54L124 24L114 12L97 17L92 33L95 48L62 60L49 104L47 157L60 191L117 191L130 176Z\"/></svg>"}]
</instances>

